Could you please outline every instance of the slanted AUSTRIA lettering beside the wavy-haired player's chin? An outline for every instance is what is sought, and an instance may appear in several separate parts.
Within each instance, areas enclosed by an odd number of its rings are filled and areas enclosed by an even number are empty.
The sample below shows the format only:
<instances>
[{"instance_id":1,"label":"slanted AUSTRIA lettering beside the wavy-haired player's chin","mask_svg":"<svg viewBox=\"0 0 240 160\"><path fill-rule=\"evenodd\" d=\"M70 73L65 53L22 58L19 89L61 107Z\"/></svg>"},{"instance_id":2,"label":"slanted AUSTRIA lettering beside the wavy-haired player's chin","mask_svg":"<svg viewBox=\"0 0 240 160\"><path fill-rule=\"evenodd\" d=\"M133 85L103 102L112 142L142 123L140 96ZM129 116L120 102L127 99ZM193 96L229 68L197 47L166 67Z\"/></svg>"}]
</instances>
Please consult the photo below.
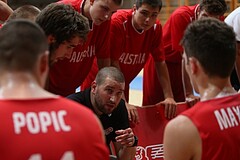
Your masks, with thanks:
<instances>
[{"instance_id":1,"label":"slanted AUSTRIA lettering beside the wavy-haired player's chin","mask_svg":"<svg viewBox=\"0 0 240 160\"><path fill-rule=\"evenodd\" d=\"M83 61L84 58L86 57L93 57L95 56L95 45L93 46L88 46L88 48L82 52L73 52L71 59L69 62L72 63L78 63Z\"/></svg>"}]
</instances>

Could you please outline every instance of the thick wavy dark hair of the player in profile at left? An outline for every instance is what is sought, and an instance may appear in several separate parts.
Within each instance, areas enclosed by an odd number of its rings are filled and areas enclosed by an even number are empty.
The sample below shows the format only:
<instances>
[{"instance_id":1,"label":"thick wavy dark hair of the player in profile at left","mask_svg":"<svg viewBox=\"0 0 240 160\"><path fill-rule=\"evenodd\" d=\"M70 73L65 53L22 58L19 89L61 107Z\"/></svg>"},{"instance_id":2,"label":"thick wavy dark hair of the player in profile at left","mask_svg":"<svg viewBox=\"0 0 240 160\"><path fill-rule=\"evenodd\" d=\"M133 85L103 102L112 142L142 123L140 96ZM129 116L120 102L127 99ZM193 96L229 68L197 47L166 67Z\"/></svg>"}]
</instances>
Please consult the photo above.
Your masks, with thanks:
<instances>
[{"instance_id":1,"label":"thick wavy dark hair of the player in profile at left","mask_svg":"<svg viewBox=\"0 0 240 160\"><path fill-rule=\"evenodd\" d=\"M58 46L76 36L86 39L89 32L87 18L66 4L47 5L37 16L36 23L42 27L47 36L55 37Z\"/></svg>"}]
</instances>

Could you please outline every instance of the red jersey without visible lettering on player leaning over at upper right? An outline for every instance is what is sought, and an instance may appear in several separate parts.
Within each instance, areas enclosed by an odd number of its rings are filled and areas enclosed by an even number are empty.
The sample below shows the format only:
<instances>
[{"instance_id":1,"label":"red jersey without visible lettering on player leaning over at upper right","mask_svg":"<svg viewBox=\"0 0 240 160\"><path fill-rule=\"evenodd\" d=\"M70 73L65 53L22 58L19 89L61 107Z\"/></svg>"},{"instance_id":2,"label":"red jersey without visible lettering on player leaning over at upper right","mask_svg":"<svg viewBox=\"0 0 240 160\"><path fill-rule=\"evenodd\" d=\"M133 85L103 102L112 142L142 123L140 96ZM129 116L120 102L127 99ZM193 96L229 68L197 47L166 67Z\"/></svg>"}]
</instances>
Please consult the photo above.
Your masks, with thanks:
<instances>
[{"instance_id":1,"label":"red jersey without visible lettering on player leaning over at upper right","mask_svg":"<svg viewBox=\"0 0 240 160\"><path fill-rule=\"evenodd\" d=\"M163 27L166 61L181 63L183 48L180 41L188 24L197 19L199 5L177 8Z\"/></svg>"}]
</instances>

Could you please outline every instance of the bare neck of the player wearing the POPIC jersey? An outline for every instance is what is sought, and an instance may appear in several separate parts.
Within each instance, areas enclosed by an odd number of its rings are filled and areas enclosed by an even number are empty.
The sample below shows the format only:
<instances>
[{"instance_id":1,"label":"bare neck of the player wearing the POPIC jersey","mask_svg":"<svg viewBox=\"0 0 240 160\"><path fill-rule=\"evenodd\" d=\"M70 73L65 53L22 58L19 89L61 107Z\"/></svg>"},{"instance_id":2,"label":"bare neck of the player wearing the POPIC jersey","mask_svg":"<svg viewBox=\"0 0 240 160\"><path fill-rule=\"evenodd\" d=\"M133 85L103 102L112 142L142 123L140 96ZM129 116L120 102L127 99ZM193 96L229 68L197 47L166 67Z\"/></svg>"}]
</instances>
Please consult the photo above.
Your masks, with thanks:
<instances>
[{"instance_id":1,"label":"bare neck of the player wearing the POPIC jersey","mask_svg":"<svg viewBox=\"0 0 240 160\"><path fill-rule=\"evenodd\" d=\"M8 73L0 76L0 99L31 99L54 97L27 73Z\"/></svg>"}]
</instances>

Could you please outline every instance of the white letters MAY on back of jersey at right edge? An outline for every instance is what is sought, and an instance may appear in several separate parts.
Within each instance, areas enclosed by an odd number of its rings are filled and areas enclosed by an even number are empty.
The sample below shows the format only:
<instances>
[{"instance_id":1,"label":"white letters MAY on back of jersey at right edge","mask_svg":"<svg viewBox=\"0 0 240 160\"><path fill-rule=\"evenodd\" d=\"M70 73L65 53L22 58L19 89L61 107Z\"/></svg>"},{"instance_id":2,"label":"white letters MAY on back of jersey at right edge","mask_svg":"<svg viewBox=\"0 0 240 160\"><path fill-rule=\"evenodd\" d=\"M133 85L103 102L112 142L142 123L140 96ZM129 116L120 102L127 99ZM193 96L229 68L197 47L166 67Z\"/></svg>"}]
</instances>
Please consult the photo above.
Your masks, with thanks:
<instances>
[{"instance_id":1,"label":"white letters MAY on back of jersey at right edge","mask_svg":"<svg viewBox=\"0 0 240 160\"><path fill-rule=\"evenodd\" d=\"M214 111L221 130L236 127L240 123L240 106L222 108Z\"/></svg>"}]
</instances>

